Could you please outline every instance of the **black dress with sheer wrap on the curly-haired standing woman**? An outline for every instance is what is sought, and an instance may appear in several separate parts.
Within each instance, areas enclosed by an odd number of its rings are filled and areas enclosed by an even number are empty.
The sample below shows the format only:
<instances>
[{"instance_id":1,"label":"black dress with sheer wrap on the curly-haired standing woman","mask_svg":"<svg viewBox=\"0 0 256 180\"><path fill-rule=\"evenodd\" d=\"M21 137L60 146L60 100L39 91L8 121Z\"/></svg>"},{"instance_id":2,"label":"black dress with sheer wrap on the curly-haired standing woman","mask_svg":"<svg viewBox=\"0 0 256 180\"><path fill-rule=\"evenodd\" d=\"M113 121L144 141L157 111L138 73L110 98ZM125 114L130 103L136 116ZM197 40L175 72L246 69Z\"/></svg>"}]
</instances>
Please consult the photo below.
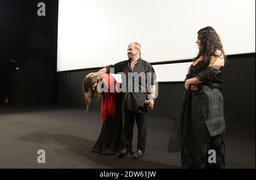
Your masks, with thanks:
<instances>
[{"instance_id":1,"label":"black dress with sheer wrap on the curly-haired standing woman","mask_svg":"<svg viewBox=\"0 0 256 180\"><path fill-rule=\"evenodd\" d=\"M225 118L221 71L200 61L189 67L186 79L194 77L203 83L199 84L197 91L184 92L168 152L181 150L183 168L224 168ZM216 154L216 162L208 161L208 158L213 160L210 149Z\"/></svg>"}]
</instances>

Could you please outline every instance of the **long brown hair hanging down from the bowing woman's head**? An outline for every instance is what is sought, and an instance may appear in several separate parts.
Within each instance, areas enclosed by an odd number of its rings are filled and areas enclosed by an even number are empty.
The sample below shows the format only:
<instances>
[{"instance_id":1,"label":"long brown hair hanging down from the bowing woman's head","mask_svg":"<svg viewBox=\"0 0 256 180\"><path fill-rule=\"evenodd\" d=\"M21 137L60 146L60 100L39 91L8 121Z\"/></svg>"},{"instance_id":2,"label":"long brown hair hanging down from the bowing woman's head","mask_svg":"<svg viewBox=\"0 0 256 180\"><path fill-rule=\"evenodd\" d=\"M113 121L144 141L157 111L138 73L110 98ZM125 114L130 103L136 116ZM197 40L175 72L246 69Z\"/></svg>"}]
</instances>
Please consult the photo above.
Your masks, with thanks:
<instances>
[{"instance_id":1,"label":"long brown hair hanging down from the bowing woman's head","mask_svg":"<svg viewBox=\"0 0 256 180\"><path fill-rule=\"evenodd\" d=\"M100 93L97 91L97 89L93 90L92 88L96 83L96 80L96 76L84 78L84 80L82 80L82 95L84 96L86 103L86 112L88 111L90 102L92 102L94 96L96 96L96 100L100 99Z\"/></svg>"}]
</instances>

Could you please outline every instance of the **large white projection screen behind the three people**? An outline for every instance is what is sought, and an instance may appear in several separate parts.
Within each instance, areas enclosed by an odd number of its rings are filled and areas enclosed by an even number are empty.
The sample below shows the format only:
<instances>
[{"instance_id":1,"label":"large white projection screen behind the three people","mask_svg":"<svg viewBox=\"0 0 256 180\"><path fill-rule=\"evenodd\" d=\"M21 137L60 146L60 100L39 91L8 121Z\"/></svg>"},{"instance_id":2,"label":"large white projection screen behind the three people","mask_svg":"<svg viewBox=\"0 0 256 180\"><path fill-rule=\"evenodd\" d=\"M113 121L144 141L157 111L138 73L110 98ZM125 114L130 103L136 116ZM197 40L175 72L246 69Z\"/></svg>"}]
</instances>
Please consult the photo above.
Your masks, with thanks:
<instances>
[{"instance_id":1,"label":"large white projection screen behind the three people","mask_svg":"<svg viewBox=\"0 0 256 180\"><path fill-rule=\"evenodd\" d=\"M206 26L216 29L226 54L255 53L255 0L60 0L57 71L123 61L130 42L141 44L150 63L192 59ZM167 67L181 74L158 81L184 80L188 63L181 64L155 65L160 77Z\"/></svg>"}]
</instances>

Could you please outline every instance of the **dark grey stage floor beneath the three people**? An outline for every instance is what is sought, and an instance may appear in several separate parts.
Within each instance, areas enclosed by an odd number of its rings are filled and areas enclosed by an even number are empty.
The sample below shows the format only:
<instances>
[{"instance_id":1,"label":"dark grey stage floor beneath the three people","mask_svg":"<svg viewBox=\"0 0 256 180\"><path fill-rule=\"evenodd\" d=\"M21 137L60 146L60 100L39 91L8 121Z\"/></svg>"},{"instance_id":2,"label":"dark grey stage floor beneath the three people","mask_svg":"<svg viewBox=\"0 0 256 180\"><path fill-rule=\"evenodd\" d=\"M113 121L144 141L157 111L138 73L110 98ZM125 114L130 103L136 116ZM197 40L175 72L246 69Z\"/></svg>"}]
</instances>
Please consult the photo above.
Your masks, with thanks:
<instances>
[{"instance_id":1,"label":"dark grey stage floor beneath the three people","mask_svg":"<svg viewBox=\"0 0 256 180\"><path fill-rule=\"evenodd\" d=\"M100 112L0 105L0 168L181 168L180 153L167 153L173 123L149 116L146 154L134 160L90 152ZM226 168L255 168L255 127L228 127L225 141ZM46 151L45 164L38 164L39 149Z\"/></svg>"}]
</instances>

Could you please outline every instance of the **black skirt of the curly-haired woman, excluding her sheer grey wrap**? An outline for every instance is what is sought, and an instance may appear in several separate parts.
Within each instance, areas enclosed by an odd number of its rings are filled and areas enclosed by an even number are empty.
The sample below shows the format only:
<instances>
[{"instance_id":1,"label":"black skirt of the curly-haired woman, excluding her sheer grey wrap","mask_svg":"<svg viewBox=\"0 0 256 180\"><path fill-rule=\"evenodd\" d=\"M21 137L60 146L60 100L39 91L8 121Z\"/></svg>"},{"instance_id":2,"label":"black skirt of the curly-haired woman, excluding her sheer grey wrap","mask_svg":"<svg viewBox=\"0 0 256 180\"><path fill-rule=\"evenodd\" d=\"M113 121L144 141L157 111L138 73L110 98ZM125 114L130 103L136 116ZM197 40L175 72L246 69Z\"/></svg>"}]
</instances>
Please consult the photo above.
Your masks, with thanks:
<instances>
[{"instance_id":1,"label":"black skirt of the curly-haired woman, excluding her sheer grey wrap","mask_svg":"<svg viewBox=\"0 0 256 180\"><path fill-rule=\"evenodd\" d=\"M210 136L198 92L189 92L187 118L183 121L181 164L183 168L224 168L224 134ZM213 155L214 162L209 158Z\"/></svg>"}]
</instances>

